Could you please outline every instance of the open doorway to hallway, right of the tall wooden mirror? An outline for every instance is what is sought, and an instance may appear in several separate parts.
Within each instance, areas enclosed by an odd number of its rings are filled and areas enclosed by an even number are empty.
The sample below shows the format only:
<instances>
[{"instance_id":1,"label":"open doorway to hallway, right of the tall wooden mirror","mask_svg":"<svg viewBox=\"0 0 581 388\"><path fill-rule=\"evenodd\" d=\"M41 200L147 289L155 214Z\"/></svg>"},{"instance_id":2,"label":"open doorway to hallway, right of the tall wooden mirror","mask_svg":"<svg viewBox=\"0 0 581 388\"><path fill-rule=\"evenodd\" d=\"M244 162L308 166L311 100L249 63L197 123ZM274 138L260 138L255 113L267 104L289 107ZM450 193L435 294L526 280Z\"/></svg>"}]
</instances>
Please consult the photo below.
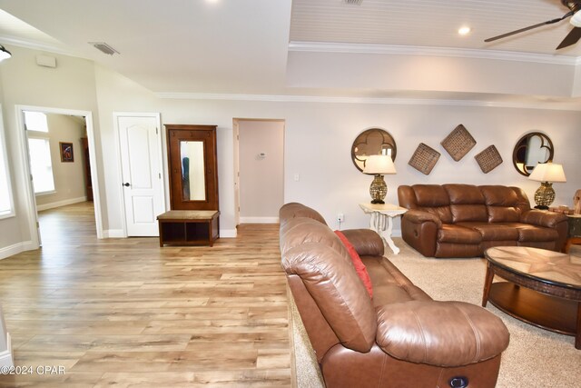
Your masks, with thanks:
<instances>
[{"instance_id":1,"label":"open doorway to hallway, right of the tall wooden mirror","mask_svg":"<svg viewBox=\"0 0 581 388\"><path fill-rule=\"evenodd\" d=\"M276 224L284 203L284 120L233 120L237 224Z\"/></svg>"}]
</instances>

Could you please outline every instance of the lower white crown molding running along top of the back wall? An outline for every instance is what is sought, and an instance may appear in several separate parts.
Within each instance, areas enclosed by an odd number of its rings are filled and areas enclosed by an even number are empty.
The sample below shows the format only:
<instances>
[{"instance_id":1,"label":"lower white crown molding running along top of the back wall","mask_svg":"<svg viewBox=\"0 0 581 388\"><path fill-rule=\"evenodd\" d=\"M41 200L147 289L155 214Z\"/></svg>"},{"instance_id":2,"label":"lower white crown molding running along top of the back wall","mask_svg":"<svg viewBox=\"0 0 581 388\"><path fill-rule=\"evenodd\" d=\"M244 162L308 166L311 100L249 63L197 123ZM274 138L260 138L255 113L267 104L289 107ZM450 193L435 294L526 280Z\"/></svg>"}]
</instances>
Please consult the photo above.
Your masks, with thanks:
<instances>
[{"instance_id":1,"label":"lower white crown molding running along top of the back wall","mask_svg":"<svg viewBox=\"0 0 581 388\"><path fill-rule=\"evenodd\" d=\"M270 103L475 106L491 108L541 109L552 111L579 111L581 106L581 102L577 104L569 104L556 101L508 102L484 100L450 100L437 98L331 97L320 95L227 95L198 93L155 93L154 95L162 99L178 100L260 101Z\"/></svg>"}]
</instances>

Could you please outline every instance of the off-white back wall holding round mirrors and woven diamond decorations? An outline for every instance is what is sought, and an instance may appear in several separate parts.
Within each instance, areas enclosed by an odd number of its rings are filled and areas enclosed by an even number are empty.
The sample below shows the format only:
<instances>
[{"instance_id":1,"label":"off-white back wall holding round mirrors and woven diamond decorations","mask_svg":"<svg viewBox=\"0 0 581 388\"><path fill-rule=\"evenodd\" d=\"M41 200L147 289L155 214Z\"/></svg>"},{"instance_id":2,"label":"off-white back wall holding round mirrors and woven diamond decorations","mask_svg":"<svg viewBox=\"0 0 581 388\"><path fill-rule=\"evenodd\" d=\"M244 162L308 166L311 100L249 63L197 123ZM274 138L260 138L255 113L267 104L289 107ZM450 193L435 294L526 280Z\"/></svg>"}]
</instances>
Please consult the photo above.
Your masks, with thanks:
<instances>
[{"instance_id":1,"label":"off-white back wall holding round mirrors and woven diamond decorations","mask_svg":"<svg viewBox=\"0 0 581 388\"><path fill-rule=\"evenodd\" d=\"M385 128L398 144L398 174L390 175L387 201L397 203L399 184L467 183L514 184L529 197L537 182L518 174L512 165L517 140L530 131L548 134L555 145L555 162L565 165L568 181L555 184L556 204L570 204L581 175L576 153L581 113L523 108L467 106L465 104L330 104L313 102L226 101L162 99L133 84L121 75L97 67L100 116L113 110L161 112L162 123L218 125L218 170L221 227L235 228L233 214L233 117L280 118L286 121L284 200L300 201L320 211L332 227L337 213L345 214L343 227L369 225L359 210L359 202L369 200L370 178L359 173L350 161L350 146L355 137L372 126ZM458 124L464 124L477 145L462 160L455 162L439 142ZM113 127L103 120L103 148L113 146ZM105 143L110 139L111 143ZM419 173L408 165L420 142L442 155L432 174ZM495 144L504 163L488 174L481 172L474 155ZM108 157L105 181L118 180L117 161ZM300 181L293 180L300 174ZM120 227L117 190L107 191L109 227ZM398 228L399 225L396 225Z\"/></svg>"}]
</instances>

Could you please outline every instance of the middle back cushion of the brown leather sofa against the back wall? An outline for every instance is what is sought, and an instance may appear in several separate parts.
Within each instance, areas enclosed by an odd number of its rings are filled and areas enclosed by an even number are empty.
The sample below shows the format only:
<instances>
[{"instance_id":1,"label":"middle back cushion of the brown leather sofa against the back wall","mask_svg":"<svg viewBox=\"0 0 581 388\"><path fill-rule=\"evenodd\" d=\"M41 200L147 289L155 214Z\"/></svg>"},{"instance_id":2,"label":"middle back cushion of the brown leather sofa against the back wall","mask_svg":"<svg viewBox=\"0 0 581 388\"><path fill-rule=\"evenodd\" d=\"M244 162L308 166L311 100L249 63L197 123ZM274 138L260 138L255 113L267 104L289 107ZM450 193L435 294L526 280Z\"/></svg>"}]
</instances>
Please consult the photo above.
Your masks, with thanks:
<instances>
[{"instance_id":1,"label":"middle back cushion of the brown leather sofa against the back wall","mask_svg":"<svg viewBox=\"0 0 581 388\"><path fill-rule=\"evenodd\" d=\"M487 222L487 206L478 186L473 184L444 184L450 199L452 223Z\"/></svg>"}]
</instances>

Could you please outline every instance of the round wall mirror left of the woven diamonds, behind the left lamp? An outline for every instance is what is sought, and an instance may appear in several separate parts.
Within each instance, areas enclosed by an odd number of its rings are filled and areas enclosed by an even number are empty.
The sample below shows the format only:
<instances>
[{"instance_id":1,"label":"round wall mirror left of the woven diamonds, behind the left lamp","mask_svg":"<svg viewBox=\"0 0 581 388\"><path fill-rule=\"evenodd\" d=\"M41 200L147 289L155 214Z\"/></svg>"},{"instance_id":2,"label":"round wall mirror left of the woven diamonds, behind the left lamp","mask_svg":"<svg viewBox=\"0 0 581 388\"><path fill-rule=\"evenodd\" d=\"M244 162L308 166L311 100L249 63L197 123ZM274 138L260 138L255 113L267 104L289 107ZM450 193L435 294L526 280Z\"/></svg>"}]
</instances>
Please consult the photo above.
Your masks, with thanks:
<instances>
[{"instance_id":1,"label":"round wall mirror left of the woven diamonds, behind the left lamp","mask_svg":"<svg viewBox=\"0 0 581 388\"><path fill-rule=\"evenodd\" d=\"M351 145L351 160L360 172L363 172L369 155L387 154L395 162L397 153L393 136L381 128L369 128L361 132Z\"/></svg>"}]
</instances>

